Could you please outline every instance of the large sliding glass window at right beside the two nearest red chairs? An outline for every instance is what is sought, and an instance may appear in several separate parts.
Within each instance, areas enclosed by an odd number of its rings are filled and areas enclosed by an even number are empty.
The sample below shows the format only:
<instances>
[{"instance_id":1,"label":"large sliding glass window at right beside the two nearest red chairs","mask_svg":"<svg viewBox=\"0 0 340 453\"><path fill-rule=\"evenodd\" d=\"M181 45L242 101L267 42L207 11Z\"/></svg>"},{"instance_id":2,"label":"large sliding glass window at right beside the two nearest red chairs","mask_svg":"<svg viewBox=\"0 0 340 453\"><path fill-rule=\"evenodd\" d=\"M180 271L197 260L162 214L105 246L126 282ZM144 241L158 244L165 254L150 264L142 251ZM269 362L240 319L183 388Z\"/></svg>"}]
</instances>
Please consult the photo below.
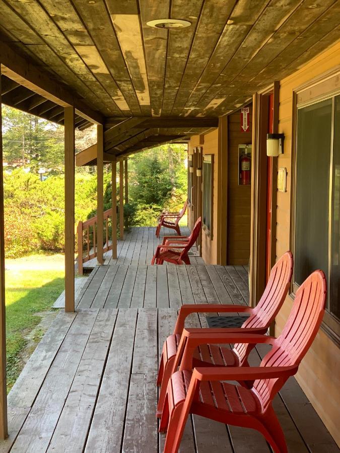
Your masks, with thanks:
<instances>
[{"instance_id":1,"label":"large sliding glass window at right beside the two nearest red chairs","mask_svg":"<svg viewBox=\"0 0 340 453\"><path fill-rule=\"evenodd\" d=\"M295 193L294 287L324 271L323 327L340 344L340 95L298 106Z\"/></svg>"}]
</instances>

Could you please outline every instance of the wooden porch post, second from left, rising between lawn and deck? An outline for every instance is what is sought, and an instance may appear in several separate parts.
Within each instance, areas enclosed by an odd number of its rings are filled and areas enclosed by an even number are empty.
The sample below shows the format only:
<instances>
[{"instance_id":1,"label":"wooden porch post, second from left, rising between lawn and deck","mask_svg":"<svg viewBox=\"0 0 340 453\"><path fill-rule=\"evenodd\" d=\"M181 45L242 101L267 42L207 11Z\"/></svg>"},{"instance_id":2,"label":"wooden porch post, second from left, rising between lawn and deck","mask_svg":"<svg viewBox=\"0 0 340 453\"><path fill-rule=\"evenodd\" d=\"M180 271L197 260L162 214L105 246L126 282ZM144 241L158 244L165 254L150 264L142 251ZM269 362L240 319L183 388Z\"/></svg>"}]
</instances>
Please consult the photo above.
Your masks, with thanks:
<instances>
[{"instance_id":1,"label":"wooden porch post, second from left, rising between lawn and deck","mask_svg":"<svg viewBox=\"0 0 340 453\"><path fill-rule=\"evenodd\" d=\"M65 107L65 312L75 311L75 109Z\"/></svg>"}]
</instances>

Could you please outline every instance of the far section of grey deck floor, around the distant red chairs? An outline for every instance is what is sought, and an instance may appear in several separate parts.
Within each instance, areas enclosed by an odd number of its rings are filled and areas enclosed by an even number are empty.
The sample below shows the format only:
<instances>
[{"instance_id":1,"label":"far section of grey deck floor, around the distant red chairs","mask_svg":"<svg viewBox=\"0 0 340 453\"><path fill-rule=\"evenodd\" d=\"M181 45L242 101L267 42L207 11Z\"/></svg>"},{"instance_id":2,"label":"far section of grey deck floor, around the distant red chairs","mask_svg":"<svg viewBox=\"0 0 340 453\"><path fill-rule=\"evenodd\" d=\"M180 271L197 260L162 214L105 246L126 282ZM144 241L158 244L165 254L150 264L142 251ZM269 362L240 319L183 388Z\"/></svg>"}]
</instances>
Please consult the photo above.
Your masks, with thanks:
<instances>
[{"instance_id":1,"label":"far section of grey deck floor, around the distant red chairs","mask_svg":"<svg viewBox=\"0 0 340 453\"><path fill-rule=\"evenodd\" d=\"M187 226L181 226L181 234L189 236L190 230ZM177 233L169 228L162 228L160 237L156 238L156 227L134 226L131 231L125 234L122 241L117 241L117 259L112 259L112 251L104 254L104 264L150 264L154 256L154 250L163 242L164 236L176 236ZM204 264L195 247L190 252L191 264ZM97 258L84 263L84 269L93 269L97 265Z\"/></svg>"}]
</instances>

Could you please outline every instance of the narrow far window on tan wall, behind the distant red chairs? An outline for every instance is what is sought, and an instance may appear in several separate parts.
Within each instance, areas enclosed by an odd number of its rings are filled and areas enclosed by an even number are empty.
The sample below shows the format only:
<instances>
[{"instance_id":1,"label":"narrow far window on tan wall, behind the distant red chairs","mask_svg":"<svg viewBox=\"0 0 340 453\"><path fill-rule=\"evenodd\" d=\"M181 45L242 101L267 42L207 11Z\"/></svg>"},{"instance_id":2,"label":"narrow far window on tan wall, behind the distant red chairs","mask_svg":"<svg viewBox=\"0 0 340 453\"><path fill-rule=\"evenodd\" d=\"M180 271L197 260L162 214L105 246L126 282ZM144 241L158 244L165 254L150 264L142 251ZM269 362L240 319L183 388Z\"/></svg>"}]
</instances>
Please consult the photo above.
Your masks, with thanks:
<instances>
[{"instance_id":1,"label":"narrow far window on tan wall, behind the distant red chairs","mask_svg":"<svg viewBox=\"0 0 340 453\"><path fill-rule=\"evenodd\" d=\"M203 156L203 231L213 239L213 172L214 156Z\"/></svg>"}]
</instances>

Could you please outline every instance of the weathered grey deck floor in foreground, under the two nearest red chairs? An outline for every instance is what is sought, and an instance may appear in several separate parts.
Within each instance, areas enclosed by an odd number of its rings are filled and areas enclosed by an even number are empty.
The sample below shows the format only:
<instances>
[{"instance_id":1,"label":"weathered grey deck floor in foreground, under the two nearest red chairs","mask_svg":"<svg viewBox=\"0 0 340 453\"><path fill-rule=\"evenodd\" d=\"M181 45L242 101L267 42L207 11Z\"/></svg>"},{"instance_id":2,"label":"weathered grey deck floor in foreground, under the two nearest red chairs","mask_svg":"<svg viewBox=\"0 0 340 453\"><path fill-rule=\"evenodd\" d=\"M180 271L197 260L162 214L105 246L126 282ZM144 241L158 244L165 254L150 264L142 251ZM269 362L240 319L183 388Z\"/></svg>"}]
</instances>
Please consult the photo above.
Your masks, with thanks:
<instances>
[{"instance_id":1,"label":"weathered grey deck floor in foreground, under the two nearest red chairs","mask_svg":"<svg viewBox=\"0 0 340 453\"><path fill-rule=\"evenodd\" d=\"M89 276L78 311L62 310L8 397L10 437L0 452L153 453L160 351L185 303L248 300L247 272L223 266L102 266ZM206 326L202 315L191 327ZM265 349L252 352L258 364ZM275 400L290 452L338 451L294 378ZM198 416L182 453L269 452L255 431Z\"/></svg>"}]
</instances>

